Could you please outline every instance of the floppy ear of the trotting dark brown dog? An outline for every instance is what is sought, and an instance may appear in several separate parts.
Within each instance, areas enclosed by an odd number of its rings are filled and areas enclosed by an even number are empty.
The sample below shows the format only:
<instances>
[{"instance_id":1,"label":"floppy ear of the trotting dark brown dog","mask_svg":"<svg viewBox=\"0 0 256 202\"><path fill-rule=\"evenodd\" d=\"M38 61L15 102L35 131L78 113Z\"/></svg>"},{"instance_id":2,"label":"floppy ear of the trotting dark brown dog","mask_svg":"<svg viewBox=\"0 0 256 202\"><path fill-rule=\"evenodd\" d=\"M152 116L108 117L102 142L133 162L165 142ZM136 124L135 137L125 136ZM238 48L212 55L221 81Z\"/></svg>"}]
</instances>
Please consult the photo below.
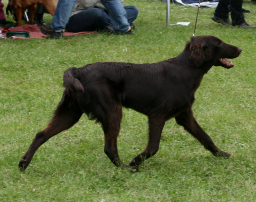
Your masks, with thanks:
<instances>
[{"instance_id":1,"label":"floppy ear of the trotting dark brown dog","mask_svg":"<svg viewBox=\"0 0 256 202\"><path fill-rule=\"evenodd\" d=\"M206 61L210 60L209 48L206 43L190 45L189 59L197 66L201 67Z\"/></svg>"}]
</instances>

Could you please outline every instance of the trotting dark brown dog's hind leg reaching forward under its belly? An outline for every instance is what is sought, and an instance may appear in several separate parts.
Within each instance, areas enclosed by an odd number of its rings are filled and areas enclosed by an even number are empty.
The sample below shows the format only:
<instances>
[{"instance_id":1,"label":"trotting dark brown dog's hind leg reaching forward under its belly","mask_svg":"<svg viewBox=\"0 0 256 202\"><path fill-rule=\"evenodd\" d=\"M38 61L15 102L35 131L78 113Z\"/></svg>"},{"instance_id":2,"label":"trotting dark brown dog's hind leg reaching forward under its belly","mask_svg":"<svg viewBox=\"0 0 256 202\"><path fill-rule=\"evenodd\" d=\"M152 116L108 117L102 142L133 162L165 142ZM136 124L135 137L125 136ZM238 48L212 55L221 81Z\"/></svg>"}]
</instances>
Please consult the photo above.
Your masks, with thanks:
<instances>
[{"instance_id":1,"label":"trotting dark brown dog's hind leg reaching forward under its belly","mask_svg":"<svg viewBox=\"0 0 256 202\"><path fill-rule=\"evenodd\" d=\"M117 136L122 119L122 105L116 105L114 108L110 107L108 112L109 114L105 114L101 121L105 137L104 153L117 167L123 166L124 164L119 158L117 149Z\"/></svg>"}]
</instances>

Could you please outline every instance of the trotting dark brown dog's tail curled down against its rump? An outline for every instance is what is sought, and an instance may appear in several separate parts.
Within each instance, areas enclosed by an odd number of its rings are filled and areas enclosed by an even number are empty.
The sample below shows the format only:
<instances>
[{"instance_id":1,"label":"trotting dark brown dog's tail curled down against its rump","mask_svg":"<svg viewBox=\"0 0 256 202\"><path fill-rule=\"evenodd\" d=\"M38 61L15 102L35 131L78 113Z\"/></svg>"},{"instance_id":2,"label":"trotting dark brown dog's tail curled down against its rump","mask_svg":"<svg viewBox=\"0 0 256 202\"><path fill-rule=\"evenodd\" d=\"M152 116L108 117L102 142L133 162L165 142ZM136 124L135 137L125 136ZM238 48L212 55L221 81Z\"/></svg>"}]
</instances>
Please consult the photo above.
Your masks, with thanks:
<instances>
[{"instance_id":1,"label":"trotting dark brown dog's tail curled down against its rump","mask_svg":"<svg viewBox=\"0 0 256 202\"><path fill-rule=\"evenodd\" d=\"M84 88L81 82L76 78L77 68L71 67L67 69L63 74L63 86L69 92L84 92Z\"/></svg>"}]
</instances>

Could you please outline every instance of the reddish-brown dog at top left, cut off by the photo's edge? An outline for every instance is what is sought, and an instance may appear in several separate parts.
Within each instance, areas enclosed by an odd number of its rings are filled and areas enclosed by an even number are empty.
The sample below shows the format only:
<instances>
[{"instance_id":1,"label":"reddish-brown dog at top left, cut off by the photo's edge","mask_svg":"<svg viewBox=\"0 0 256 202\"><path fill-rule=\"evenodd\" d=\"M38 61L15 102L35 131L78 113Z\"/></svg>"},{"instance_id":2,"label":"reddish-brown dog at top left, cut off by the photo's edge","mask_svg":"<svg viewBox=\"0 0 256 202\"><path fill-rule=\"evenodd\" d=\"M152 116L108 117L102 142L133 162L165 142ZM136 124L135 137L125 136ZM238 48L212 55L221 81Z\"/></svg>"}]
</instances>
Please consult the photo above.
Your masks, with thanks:
<instances>
[{"instance_id":1,"label":"reddish-brown dog at top left, cut off by the photo's edge","mask_svg":"<svg viewBox=\"0 0 256 202\"><path fill-rule=\"evenodd\" d=\"M9 15L9 11L14 10L17 26L22 26L23 15L25 11L29 9L28 24L33 24L36 7L39 3L44 4L48 12L53 15L57 7L58 0L9 0L8 6L6 7L6 13Z\"/></svg>"}]
</instances>

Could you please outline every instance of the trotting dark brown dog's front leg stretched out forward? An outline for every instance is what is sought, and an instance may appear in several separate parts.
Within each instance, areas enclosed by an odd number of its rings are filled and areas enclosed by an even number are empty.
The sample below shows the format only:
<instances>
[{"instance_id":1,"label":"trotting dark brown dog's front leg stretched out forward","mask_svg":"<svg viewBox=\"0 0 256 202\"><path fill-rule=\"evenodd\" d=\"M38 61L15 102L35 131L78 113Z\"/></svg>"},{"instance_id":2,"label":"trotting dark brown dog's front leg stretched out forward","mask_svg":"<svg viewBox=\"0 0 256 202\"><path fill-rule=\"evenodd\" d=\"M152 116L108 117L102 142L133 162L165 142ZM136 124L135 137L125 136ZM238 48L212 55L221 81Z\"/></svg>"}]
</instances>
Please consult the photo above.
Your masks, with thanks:
<instances>
[{"instance_id":1,"label":"trotting dark brown dog's front leg stretched out forward","mask_svg":"<svg viewBox=\"0 0 256 202\"><path fill-rule=\"evenodd\" d=\"M204 130L197 123L195 117L193 116L193 111L191 109L180 113L175 117L176 122L182 125L185 130L187 130L191 135L201 142L206 149L208 149L215 156L229 157L230 154L220 150L211 138L204 132Z\"/></svg>"}]
</instances>

